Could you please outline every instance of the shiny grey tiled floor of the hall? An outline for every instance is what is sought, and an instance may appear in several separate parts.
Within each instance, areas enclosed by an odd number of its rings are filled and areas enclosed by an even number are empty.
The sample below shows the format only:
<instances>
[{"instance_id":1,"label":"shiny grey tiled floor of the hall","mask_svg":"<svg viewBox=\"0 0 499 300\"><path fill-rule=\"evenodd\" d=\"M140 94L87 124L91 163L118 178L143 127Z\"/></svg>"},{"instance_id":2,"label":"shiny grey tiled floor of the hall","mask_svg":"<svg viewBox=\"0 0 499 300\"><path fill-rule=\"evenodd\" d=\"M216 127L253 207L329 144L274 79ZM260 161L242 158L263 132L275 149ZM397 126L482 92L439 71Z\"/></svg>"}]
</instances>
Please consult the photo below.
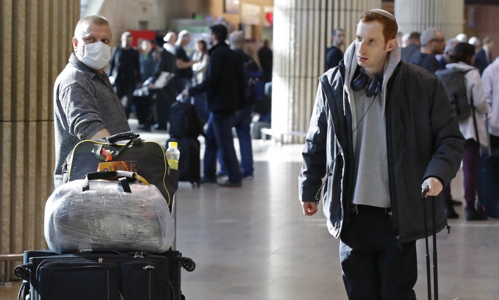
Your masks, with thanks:
<instances>
[{"instance_id":1,"label":"shiny grey tiled floor of the hall","mask_svg":"<svg viewBox=\"0 0 499 300\"><path fill-rule=\"evenodd\" d=\"M243 187L180 184L177 248L197 264L182 272L187 300L347 299L338 240L321 213L303 216L297 200L300 151L301 145L254 141L255 177ZM461 182L459 173L452 182L458 200ZM499 300L499 220L467 222L463 207L457 211L462 216L449 222L451 233L438 234L440 299ZM424 240L417 246L421 300L427 299ZM0 287L0 299L15 299L17 288Z\"/></svg>"}]
</instances>

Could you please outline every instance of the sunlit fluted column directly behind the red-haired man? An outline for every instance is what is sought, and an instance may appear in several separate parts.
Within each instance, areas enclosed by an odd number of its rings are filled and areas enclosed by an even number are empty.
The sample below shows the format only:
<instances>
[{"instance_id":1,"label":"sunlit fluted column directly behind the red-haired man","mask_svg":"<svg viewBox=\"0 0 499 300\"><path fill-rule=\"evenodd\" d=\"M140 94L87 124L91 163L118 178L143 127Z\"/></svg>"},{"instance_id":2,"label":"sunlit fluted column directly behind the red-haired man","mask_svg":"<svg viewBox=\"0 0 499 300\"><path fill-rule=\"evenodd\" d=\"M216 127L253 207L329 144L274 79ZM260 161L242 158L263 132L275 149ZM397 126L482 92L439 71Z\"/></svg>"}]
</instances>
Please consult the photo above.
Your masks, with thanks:
<instances>
[{"instance_id":1,"label":"sunlit fluted column directly behind the red-haired man","mask_svg":"<svg viewBox=\"0 0 499 300\"><path fill-rule=\"evenodd\" d=\"M348 45L362 12L380 7L381 0L274 1L273 131L307 131L332 30L344 28ZM302 136L283 138L284 143L304 141Z\"/></svg>"}]
</instances>

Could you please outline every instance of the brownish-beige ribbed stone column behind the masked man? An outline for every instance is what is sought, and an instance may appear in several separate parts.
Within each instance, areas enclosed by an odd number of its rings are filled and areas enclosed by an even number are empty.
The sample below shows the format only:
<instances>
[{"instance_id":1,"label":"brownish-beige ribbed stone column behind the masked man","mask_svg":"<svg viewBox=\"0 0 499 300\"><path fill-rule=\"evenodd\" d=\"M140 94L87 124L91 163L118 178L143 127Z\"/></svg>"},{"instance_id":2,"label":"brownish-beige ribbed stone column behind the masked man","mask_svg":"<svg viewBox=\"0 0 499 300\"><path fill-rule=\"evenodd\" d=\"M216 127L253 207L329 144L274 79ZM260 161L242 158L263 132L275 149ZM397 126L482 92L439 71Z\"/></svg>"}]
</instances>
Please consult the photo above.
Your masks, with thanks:
<instances>
[{"instance_id":1,"label":"brownish-beige ribbed stone column behind the masked man","mask_svg":"<svg viewBox=\"0 0 499 300\"><path fill-rule=\"evenodd\" d=\"M54 168L52 90L72 51L79 5L75 0L1 0L2 254L46 247L43 210Z\"/></svg>"}]
</instances>

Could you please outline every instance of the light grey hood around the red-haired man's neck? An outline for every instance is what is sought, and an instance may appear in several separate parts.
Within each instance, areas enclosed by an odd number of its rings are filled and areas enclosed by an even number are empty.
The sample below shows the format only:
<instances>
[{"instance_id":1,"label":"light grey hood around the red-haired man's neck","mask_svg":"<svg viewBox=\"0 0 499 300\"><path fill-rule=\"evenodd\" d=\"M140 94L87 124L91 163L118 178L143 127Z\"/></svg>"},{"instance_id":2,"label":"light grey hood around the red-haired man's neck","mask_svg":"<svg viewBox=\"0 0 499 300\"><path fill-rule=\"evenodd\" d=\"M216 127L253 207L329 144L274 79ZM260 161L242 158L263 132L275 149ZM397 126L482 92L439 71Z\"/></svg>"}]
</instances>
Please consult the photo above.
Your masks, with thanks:
<instances>
[{"instance_id":1,"label":"light grey hood around the red-haired man's neck","mask_svg":"<svg viewBox=\"0 0 499 300\"><path fill-rule=\"evenodd\" d=\"M353 41L348 48L345 51L345 57L344 57L344 63L345 63L345 86L344 86L344 93L348 94L348 99L350 103L350 111L352 111L352 122L354 124L357 123L357 118L355 116L355 109L354 109L354 101L353 99L353 93L351 91L350 87L350 82L353 79L353 75L355 74L355 70L357 69L358 63L357 63L357 55L356 55L356 50L355 50L355 41ZM392 77L393 72L397 68L397 65L400 62L400 46L398 44L395 45L395 48L393 48L392 51L388 54L386 61L385 61L385 67L383 70L383 84L381 87L381 93L383 96L382 99L382 111L383 114L385 113L385 96L386 96L386 85L388 84L388 81L390 80L390 77ZM343 95L345 97L345 95ZM345 108L343 108L343 111L345 112Z\"/></svg>"}]
</instances>

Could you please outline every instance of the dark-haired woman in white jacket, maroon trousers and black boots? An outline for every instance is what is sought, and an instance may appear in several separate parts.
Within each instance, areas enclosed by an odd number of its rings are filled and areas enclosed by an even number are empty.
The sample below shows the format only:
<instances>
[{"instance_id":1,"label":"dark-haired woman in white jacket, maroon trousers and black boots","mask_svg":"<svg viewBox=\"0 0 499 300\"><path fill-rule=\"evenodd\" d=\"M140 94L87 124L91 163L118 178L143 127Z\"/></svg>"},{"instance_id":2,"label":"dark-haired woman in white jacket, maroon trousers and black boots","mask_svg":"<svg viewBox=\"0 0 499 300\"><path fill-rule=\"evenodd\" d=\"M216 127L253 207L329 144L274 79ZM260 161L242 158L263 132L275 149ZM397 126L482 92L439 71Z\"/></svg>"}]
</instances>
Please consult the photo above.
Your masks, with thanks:
<instances>
[{"instance_id":1,"label":"dark-haired woman in white jacket, maroon trousers and black boots","mask_svg":"<svg viewBox=\"0 0 499 300\"><path fill-rule=\"evenodd\" d=\"M484 115L489 112L489 105L484 95L480 73L475 63L475 46L461 42L456 44L451 55L451 63L446 69L459 69L464 72L466 95L471 106L469 117L459 121L459 129L466 139L463 155L463 177L465 189L465 218L467 221L486 220L483 210L475 207L477 194L477 165L480 157L480 145L487 147L487 129ZM448 87L446 87L447 89ZM445 212L448 219L458 218L451 203L451 187L442 191Z\"/></svg>"}]
</instances>

